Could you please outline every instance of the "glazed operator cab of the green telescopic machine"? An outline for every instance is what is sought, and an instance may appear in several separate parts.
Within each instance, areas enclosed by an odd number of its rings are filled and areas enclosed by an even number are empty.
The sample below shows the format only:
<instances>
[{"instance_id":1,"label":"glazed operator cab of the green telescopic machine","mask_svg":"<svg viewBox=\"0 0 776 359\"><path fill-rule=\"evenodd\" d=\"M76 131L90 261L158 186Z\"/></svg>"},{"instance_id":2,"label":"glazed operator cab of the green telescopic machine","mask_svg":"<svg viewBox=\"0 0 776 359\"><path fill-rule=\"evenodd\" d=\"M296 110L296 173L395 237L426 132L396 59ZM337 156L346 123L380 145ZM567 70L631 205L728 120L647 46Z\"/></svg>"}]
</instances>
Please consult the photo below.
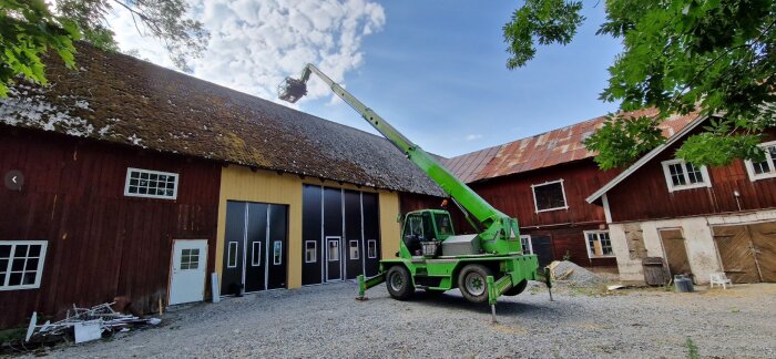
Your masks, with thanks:
<instances>
[{"instance_id":1,"label":"glazed operator cab of the green telescopic machine","mask_svg":"<svg viewBox=\"0 0 776 359\"><path fill-rule=\"evenodd\" d=\"M450 213L441 209L410 212L405 218L402 238L412 256L422 255L423 242L443 242L452 236Z\"/></svg>"}]
</instances>

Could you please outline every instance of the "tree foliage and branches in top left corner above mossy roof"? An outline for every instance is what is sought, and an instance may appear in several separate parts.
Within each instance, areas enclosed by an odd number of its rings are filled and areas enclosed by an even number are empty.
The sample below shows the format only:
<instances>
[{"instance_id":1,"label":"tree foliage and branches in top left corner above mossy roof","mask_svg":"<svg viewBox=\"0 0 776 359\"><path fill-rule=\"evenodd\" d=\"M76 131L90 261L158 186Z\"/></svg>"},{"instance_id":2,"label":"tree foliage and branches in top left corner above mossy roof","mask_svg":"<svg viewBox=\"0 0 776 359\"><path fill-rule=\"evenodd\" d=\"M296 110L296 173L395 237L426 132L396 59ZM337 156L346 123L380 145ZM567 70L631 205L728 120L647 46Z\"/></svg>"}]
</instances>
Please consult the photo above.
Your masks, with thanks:
<instances>
[{"instance_id":1,"label":"tree foliage and branches in top left corner above mossy roof","mask_svg":"<svg viewBox=\"0 0 776 359\"><path fill-rule=\"evenodd\" d=\"M73 68L73 41L85 40L119 51L108 16L113 8L129 11L141 34L164 44L176 66L190 71L186 59L202 55L210 33L186 17L185 0L59 0L52 11L44 0L0 0L0 96L18 78L45 84L41 57L55 50Z\"/></svg>"}]
</instances>

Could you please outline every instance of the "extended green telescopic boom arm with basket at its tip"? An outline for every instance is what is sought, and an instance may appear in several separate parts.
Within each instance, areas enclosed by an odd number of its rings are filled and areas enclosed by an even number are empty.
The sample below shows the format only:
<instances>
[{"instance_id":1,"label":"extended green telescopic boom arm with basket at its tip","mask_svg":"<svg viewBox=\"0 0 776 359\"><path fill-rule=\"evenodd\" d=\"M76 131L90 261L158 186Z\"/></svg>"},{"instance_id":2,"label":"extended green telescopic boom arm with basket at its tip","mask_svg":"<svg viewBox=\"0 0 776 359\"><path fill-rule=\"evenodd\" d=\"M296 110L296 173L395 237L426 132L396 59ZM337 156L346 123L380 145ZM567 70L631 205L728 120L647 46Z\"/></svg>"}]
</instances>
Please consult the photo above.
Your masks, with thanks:
<instances>
[{"instance_id":1,"label":"extended green telescopic boom arm with basket at its tip","mask_svg":"<svg viewBox=\"0 0 776 359\"><path fill-rule=\"evenodd\" d=\"M407 157L412 161L420 170L426 172L450 197L468 211L477 222L484 228L480 234L483 239L496 239L500 236L503 239L509 239L510 235L517 236L518 226L514 218L510 218L500 211L493 208L474 191L469 188L463 182L458 180L450 171L439 164L426 151L405 137L387 121L385 121L375 111L367 107L364 103L354 98L343 86L334 82L329 76L323 73L313 64L307 64L302 72L302 79L286 79L280 85L280 99L288 102L296 102L307 93L306 83L310 75L315 73L326 84L331 88L340 99L347 102L350 107L356 110L364 120L381 133L388 141L396 145ZM500 230L503 229L503 230ZM510 230L510 229L513 229Z\"/></svg>"}]
</instances>

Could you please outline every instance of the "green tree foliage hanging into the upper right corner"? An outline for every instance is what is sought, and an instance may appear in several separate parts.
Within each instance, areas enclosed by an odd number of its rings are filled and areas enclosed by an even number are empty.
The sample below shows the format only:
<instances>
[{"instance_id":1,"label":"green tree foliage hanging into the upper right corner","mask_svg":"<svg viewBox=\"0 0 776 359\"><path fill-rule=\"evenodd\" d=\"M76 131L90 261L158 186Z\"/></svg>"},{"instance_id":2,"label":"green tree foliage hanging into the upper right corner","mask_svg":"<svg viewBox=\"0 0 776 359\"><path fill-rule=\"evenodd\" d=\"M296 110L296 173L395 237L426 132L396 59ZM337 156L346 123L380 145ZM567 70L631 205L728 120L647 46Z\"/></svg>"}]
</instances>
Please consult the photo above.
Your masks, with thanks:
<instances>
[{"instance_id":1,"label":"green tree foliage hanging into the upper right corner","mask_svg":"<svg viewBox=\"0 0 776 359\"><path fill-rule=\"evenodd\" d=\"M622 111L656 107L642 120L613 116L585 145L602 168L623 166L662 141L656 126L671 114L724 114L686 141L677 156L696 164L726 165L762 157L759 133L776 123L775 0L609 0L599 34L622 40L601 99ZM582 6L564 0L527 0L504 27L522 66L540 44L573 39Z\"/></svg>"}]
</instances>

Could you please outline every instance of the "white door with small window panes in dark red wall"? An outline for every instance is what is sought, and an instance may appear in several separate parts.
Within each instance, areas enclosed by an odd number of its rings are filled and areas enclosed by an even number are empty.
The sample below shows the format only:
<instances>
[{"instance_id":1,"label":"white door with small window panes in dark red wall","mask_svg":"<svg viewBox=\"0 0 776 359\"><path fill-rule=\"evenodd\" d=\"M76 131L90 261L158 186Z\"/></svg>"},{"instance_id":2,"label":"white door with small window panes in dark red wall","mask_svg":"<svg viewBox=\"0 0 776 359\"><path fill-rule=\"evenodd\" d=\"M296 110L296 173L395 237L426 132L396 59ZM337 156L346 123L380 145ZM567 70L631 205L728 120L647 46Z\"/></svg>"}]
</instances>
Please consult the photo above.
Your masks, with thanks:
<instances>
[{"instance_id":1,"label":"white door with small window panes in dark red wall","mask_svg":"<svg viewBox=\"0 0 776 359\"><path fill-rule=\"evenodd\" d=\"M204 300L206 268L207 240L175 240L173 274L170 280L170 305Z\"/></svg>"}]
</instances>

